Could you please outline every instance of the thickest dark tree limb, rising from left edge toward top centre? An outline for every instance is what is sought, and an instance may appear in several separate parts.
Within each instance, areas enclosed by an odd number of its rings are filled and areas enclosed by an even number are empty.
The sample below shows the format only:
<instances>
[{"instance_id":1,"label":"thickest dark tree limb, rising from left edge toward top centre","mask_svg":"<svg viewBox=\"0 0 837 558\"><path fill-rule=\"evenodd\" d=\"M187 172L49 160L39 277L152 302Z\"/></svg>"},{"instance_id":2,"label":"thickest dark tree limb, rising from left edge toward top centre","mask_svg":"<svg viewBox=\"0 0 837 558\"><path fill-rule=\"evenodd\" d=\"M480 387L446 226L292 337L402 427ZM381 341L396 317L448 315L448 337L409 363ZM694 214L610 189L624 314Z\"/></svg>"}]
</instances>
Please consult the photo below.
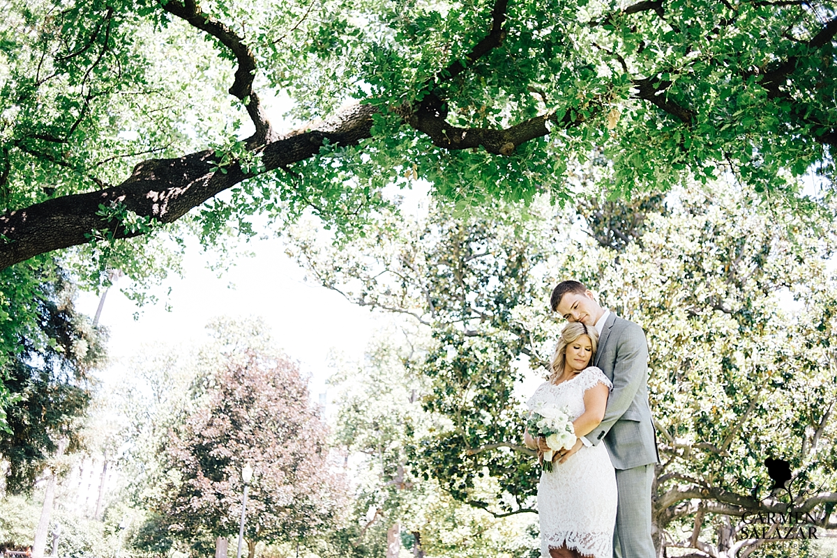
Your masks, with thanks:
<instances>
[{"instance_id":1,"label":"thickest dark tree limb, rising from left edge toward top centre","mask_svg":"<svg viewBox=\"0 0 837 558\"><path fill-rule=\"evenodd\" d=\"M370 137L375 109L354 105L335 118L264 146L266 170L306 160L331 145L355 145ZM177 159L146 160L136 165L120 185L85 194L66 195L0 216L0 269L44 252L90 241L95 231L109 231L115 238L140 234L101 215L100 205L120 204L137 215L161 223L177 221L213 195L249 178L238 164L221 172L211 150Z\"/></svg>"}]
</instances>

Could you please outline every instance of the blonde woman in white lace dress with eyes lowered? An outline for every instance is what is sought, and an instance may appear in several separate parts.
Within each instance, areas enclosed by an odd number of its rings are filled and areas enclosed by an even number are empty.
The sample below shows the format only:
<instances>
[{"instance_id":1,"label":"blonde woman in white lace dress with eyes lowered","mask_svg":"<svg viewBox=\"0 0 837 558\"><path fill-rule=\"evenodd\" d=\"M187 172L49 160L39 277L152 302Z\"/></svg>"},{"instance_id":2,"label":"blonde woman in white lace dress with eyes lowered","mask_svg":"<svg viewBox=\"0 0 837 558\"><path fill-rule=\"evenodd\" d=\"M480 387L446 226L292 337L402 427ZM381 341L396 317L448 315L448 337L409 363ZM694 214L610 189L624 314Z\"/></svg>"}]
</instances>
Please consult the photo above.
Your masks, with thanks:
<instances>
[{"instance_id":1,"label":"blonde woman in white lace dress with eyes lowered","mask_svg":"<svg viewBox=\"0 0 837 558\"><path fill-rule=\"evenodd\" d=\"M567 324L552 358L552 374L526 402L566 406L577 437L589 434L602 421L613 385L596 367L588 367L596 353L598 333L582 322ZM524 434L526 447L541 454L549 446L543 438ZM566 463L553 457L552 472L544 471L537 487L541 523L541 555L545 558L612 558L616 520L616 474L604 444L583 447Z\"/></svg>"}]
</instances>

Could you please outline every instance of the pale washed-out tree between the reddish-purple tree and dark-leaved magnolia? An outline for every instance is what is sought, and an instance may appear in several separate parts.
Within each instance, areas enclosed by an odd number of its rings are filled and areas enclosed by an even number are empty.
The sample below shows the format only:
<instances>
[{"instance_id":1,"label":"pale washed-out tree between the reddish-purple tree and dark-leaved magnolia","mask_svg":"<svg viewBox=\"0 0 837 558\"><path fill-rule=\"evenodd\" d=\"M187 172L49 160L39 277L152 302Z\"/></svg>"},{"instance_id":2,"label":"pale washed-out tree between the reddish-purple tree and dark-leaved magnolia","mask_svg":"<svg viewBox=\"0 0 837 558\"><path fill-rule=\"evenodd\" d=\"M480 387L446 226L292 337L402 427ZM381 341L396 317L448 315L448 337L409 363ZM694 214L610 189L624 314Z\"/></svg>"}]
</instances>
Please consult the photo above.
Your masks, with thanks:
<instances>
[{"instance_id":1,"label":"pale washed-out tree between the reddish-purple tree and dark-leaved magnolia","mask_svg":"<svg viewBox=\"0 0 837 558\"><path fill-rule=\"evenodd\" d=\"M536 555L534 515L496 518L455 500L409 462L411 446L446 429L449 418L421 403L429 380L413 368L424 359L414 337L420 332L408 329L410 344L398 342L405 338L398 329L378 332L363 362L342 363L329 381L339 393L334 439L347 454L354 501L345 526L324 542L336 555L383 558L387 531L398 525L402 547L416 558ZM485 495L496 489L489 476L476 488Z\"/></svg>"}]
</instances>

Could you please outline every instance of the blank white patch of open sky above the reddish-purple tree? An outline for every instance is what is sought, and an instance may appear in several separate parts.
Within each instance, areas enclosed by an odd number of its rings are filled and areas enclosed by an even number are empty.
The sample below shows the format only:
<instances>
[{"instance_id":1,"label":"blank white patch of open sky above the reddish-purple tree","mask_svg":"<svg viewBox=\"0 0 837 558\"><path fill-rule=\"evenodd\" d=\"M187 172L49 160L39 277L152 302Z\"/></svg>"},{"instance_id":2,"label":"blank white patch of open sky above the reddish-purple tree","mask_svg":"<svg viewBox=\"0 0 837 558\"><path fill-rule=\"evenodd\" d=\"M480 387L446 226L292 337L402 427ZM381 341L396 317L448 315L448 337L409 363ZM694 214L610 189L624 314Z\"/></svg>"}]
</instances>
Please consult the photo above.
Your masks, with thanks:
<instances>
[{"instance_id":1,"label":"blank white patch of open sky above the reddish-purple tree","mask_svg":"<svg viewBox=\"0 0 837 558\"><path fill-rule=\"evenodd\" d=\"M125 363L158 344L199 341L213 317L258 316L270 325L275 342L311 374L311 397L325 391L331 375L326 359L331 348L347 358L360 359L375 329L374 315L340 294L305 282L305 272L290 260L278 239L252 240L244 245L256 256L241 256L221 278L206 267L206 256L192 246L184 260L184 276L171 276L163 284L161 302L137 308L111 288L105 298L100 324L110 331L110 368L103 380L119 378ZM116 282L120 287L126 278ZM124 284L123 284L124 286ZM165 308L165 293L172 288ZM77 306L91 318L99 298L82 293ZM138 320L134 313L139 310Z\"/></svg>"}]
</instances>

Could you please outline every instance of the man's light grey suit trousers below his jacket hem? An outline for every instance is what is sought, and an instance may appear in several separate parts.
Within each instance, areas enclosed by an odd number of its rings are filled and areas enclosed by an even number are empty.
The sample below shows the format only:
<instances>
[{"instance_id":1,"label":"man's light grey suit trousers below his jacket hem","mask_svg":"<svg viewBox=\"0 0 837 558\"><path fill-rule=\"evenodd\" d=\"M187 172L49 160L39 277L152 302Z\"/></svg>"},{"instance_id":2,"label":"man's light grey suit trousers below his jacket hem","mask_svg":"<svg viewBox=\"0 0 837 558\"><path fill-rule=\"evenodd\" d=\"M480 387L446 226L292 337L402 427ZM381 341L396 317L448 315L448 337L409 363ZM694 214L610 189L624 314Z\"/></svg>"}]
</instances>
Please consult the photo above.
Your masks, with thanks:
<instances>
[{"instance_id":1,"label":"man's light grey suit trousers below his jacket hem","mask_svg":"<svg viewBox=\"0 0 837 558\"><path fill-rule=\"evenodd\" d=\"M616 469L614 558L655 558L651 540L651 484L654 465Z\"/></svg>"}]
</instances>

